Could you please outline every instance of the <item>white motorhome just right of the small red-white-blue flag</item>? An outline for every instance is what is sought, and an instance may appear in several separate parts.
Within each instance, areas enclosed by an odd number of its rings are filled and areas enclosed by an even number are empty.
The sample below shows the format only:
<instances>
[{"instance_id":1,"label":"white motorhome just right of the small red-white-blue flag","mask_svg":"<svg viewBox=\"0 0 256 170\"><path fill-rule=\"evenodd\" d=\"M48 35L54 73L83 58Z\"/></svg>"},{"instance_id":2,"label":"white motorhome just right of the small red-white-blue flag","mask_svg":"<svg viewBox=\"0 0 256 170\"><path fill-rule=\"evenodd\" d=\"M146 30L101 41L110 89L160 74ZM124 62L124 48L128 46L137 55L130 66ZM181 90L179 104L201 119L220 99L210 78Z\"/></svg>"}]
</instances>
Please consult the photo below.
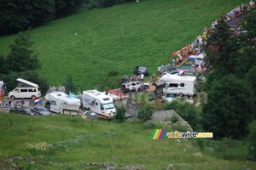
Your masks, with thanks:
<instances>
[{"instance_id":1,"label":"white motorhome just right of the small red-white-blue flag","mask_svg":"<svg viewBox=\"0 0 256 170\"><path fill-rule=\"evenodd\" d=\"M77 115L81 105L80 99L73 98L63 92L52 92L44 96L45 107L56 113Z\"/></svg>"}]
</instances>

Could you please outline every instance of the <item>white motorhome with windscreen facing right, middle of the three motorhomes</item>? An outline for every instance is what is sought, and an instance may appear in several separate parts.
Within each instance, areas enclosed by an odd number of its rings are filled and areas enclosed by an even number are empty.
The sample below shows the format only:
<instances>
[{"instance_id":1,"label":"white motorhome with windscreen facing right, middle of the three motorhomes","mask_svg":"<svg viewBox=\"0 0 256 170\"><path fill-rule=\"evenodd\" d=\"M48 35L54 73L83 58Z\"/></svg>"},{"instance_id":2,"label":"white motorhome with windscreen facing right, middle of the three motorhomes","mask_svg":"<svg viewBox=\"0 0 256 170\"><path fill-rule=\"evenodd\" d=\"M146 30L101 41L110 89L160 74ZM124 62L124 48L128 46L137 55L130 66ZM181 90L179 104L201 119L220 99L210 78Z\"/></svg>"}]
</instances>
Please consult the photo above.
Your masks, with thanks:
<instances>
[{"instance_id":1,"label":"white motorhome with windscreen facing right, middle of the three motorhomes","mask_svg":"<svg viewBox=\"0 0 256 170\"><path fill-rule=\"evenodd\" d=\"M116 113L113 98L97 90L84 91L82 94L83 107L95 111L99 115L113 116Z\"/></svg>"}]
</instances>

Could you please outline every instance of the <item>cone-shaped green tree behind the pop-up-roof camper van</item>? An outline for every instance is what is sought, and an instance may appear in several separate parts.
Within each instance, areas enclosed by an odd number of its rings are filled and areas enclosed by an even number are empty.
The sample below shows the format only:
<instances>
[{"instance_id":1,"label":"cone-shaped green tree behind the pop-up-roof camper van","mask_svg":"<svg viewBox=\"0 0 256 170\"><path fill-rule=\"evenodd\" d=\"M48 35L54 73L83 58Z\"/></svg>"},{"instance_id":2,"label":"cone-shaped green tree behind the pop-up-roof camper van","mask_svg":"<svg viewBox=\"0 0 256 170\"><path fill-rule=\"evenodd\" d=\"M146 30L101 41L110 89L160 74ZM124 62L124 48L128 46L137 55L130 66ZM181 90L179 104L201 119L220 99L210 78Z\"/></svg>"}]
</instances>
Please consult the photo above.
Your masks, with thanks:
<instances>
[{"instance_id":1,"label":"cone-shaped green tree behind the pop-up-roof camper van","mask_svg":"<svg viewBox=\"0 0 256 170\"><path fill-rule=\"evenodd\" d=\"M11 52L6 63L9 71L35 71L41 68L37 55L33 54L29 31L20 32L15 43L10 45Z\"/></svg>"}]
</instances>

